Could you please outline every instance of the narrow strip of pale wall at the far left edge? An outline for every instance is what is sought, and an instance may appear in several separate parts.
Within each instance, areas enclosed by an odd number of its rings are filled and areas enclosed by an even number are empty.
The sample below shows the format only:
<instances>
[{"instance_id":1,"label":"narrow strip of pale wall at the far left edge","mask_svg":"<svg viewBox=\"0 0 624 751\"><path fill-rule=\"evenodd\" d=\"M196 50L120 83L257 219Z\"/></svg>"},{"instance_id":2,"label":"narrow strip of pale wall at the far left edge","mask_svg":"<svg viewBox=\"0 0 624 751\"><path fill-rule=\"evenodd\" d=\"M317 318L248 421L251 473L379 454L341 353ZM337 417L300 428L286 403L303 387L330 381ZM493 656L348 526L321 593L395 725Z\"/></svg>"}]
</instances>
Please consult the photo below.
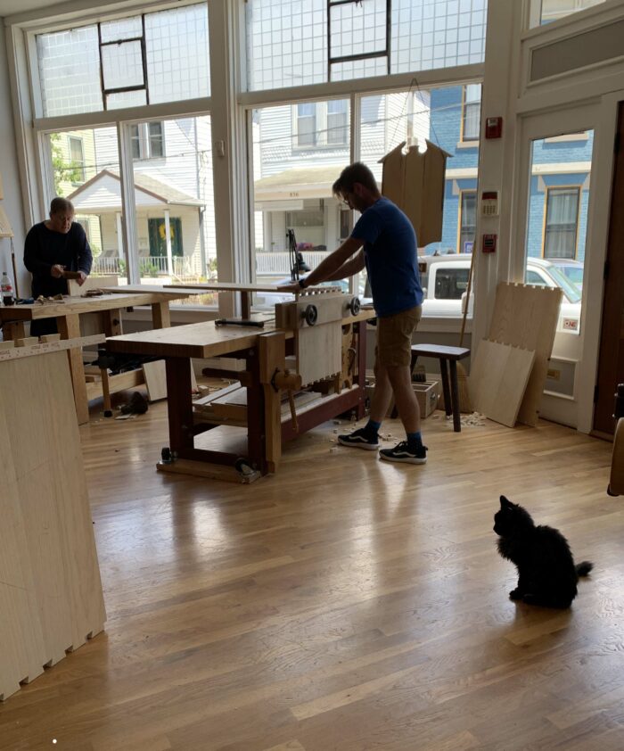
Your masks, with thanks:
<instances>
[{"instance_id":1,"label":"narrow strip of pale wall at the far left edge","mask_svg":"<svg viewBox=\"0 0 624 751\"><path fill-rule=\"evenodd\" d=\"M2 21L0 21L2 22ZM0 205L11 222L13 230L13 246L15 248L15 262L18 268L18 290L22 297L30 294L30 275L24 269L24 239L27 229L24 227L24 212L21 201L20 170L15 155L15 131L13 128L12 97L9 86L9 67L6 52L6 36L4 25L0 29L0 133L2 147L0 147L0 175L4 186L4 201ZM41 219L45 219L42 217ZM0 238L0 272L6 270L12 276L11 242ZM14 280L13 280L14 281Z\"/></svg>"}]
</instances>

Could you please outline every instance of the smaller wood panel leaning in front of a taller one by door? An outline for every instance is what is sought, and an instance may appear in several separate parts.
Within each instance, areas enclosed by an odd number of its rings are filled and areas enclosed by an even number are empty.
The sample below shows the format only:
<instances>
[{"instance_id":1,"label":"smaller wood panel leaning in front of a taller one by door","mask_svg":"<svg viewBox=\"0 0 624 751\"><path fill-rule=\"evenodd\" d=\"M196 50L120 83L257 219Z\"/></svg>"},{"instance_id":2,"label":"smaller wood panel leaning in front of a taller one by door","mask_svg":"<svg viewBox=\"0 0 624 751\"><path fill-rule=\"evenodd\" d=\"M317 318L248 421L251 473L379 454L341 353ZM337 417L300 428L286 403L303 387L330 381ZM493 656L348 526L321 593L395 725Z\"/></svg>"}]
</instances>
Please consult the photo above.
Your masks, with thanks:
<instances>
[{"instance_id":1,"label":"smaller wood panel leaning in front of a taller one by door","mask_svg":"<svg viewBox=\"0 0 624 751\"><path fill-rule=\"evenodd\" d=\"M473 409L513 427L534 360L532 350L481 340L468 381Z\"/></svg>"}]
</instances>

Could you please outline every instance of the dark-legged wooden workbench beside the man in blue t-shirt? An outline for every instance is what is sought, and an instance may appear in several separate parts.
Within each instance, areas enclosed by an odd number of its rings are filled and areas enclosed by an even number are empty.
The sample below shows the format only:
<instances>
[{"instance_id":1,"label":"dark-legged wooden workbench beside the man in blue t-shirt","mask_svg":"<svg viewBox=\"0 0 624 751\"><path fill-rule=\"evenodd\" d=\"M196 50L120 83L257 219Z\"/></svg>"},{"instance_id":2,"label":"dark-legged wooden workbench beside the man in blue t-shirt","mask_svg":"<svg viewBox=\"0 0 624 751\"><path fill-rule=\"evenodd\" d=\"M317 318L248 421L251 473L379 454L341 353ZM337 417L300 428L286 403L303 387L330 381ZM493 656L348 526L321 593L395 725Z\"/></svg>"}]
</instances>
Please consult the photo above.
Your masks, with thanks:
<instances>
[{"instance_id":1,"label":"dark-legged wooden workbench beside the man in blue t-shirt","mask_svg":"<svg viewBox=\"0 0 624 751\"><path fill-rule=\"evenodd\" d=\"M185 471L189 474L211 475L207 465L234 467L243 458L260 475L275 471L281 455L281 445L305 433L324 421L355 409L357 417L365 411L365 323L374 318L372 310L362 310L357 316L345 318L345 325L353 326L356 342L357 375L349 388L327 394L316 406L308 407L293 420L281 417L276 432L270 424L267 401L271 399L271 376L283 365L283 353L288 352L292 332L278 332L268 324L264 329L243 326L215 326L214 322L176 326L173 329L140 332L115 336L107 341L111 352L126 352L164 358L167 367L168 390L168 448L176 460L161 469ZM281 340L281 341L280 341ZM280 352L282 354L280 354ZM228 451L198 449L195 435L214 425L196 422L191 398L189 358L209 359L228 357L244 359L246 368L240 374L247 389L247 453L243 457ZM280 418L278 418L280 419ZM184 466L184 470L177 469Z\"/></svg>"}]
</instances>

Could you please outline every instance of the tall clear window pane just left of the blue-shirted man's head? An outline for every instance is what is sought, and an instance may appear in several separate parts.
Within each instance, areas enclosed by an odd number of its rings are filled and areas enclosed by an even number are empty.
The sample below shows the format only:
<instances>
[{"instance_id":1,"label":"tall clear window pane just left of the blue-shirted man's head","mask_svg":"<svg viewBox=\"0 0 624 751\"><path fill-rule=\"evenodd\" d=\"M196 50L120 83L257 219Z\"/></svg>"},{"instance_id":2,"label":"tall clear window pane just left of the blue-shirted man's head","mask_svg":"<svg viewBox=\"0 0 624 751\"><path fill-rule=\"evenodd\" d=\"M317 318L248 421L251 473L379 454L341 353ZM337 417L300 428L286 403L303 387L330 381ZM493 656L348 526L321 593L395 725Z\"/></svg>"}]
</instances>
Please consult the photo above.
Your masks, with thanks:
<instances>
[{"instance_id":1,"label":"tall clear window pane just left of the blue-shirted man's head","mask_svg":"<svg viewBox=\"0 0 624 751\"><path fill-rule=\"evenodd\" d=\"M350 212L332 186L349 164L349 101L264 107L252 122L256 276L274 283L291 275L289 230L309 268L343 239Z\"/></svg>"}]
</instances>

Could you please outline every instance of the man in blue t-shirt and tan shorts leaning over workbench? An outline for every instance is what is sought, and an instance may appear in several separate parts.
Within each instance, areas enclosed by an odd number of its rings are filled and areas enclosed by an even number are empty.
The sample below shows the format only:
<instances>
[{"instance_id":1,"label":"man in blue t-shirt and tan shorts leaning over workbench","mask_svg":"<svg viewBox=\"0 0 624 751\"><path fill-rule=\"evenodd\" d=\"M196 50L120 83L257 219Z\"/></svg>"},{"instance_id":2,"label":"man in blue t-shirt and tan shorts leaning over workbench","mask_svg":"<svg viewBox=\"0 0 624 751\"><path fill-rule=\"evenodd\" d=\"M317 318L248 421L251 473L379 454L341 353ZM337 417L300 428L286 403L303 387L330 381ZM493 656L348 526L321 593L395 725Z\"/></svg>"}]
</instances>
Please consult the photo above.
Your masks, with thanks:
<instances>
[{"instance_id":1,"label":"man in blue t-shirt and tan shorts leaning over workbench","mask_svg":"<svg viewBox=\"0 0 624 751\"><path fill-rule=\"evenodd\" d=\"M414 227L403 211L380 194L373 173L361 162L342 170L333 184L333 194L362 216L340 248L305 279L286 288L305 289L344 279L366 268L377 313L375 390L368 423L354 433L339 435L338 440L344 446L376 450L379 428L394 393L407 437L393 449L380 450L380 458L424 464L427 447L423 446L420 409L410 372L412 334L421 318L423 303Z\"/></svg>"}]
</instances>

